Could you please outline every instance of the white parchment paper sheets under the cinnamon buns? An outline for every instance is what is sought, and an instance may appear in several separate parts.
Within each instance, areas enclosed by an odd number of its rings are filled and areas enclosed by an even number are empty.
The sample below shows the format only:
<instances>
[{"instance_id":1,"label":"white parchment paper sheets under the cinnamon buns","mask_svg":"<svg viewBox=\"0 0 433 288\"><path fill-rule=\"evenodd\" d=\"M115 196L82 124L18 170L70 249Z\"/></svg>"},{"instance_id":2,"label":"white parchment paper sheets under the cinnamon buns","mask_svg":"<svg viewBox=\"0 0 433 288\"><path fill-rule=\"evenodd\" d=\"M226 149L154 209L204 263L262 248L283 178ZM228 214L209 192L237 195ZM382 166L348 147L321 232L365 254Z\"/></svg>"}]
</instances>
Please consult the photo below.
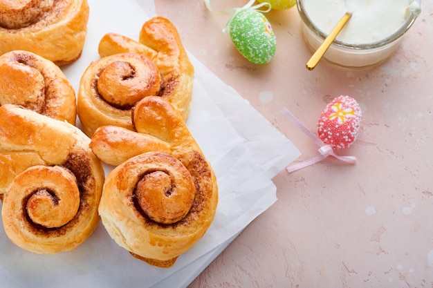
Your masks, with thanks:
<instances>
[{"instance_id":1,"label":"white parchment paper sheets under the cinnamon buns","mask_svg":"<svg viewBox=\"0 0 433 288\"><path fill-rule=\"evenodd\" d=\"M105 33L138 39L142 24L154 13L153 1L143 3L89 0L82 57L62 68L76 91L84 70L99 59L98 43ZM212 164L219 185L219 205L205 236L174 267L160 269L132 258L111 240L101 223L80 247L55 255L19 249L0 224L1 287L185 287L277 200L271 178L293 162L299 151L233 88L193 55L190 59L195 79L187 126Z\"/></svg>"}]
</instances>

